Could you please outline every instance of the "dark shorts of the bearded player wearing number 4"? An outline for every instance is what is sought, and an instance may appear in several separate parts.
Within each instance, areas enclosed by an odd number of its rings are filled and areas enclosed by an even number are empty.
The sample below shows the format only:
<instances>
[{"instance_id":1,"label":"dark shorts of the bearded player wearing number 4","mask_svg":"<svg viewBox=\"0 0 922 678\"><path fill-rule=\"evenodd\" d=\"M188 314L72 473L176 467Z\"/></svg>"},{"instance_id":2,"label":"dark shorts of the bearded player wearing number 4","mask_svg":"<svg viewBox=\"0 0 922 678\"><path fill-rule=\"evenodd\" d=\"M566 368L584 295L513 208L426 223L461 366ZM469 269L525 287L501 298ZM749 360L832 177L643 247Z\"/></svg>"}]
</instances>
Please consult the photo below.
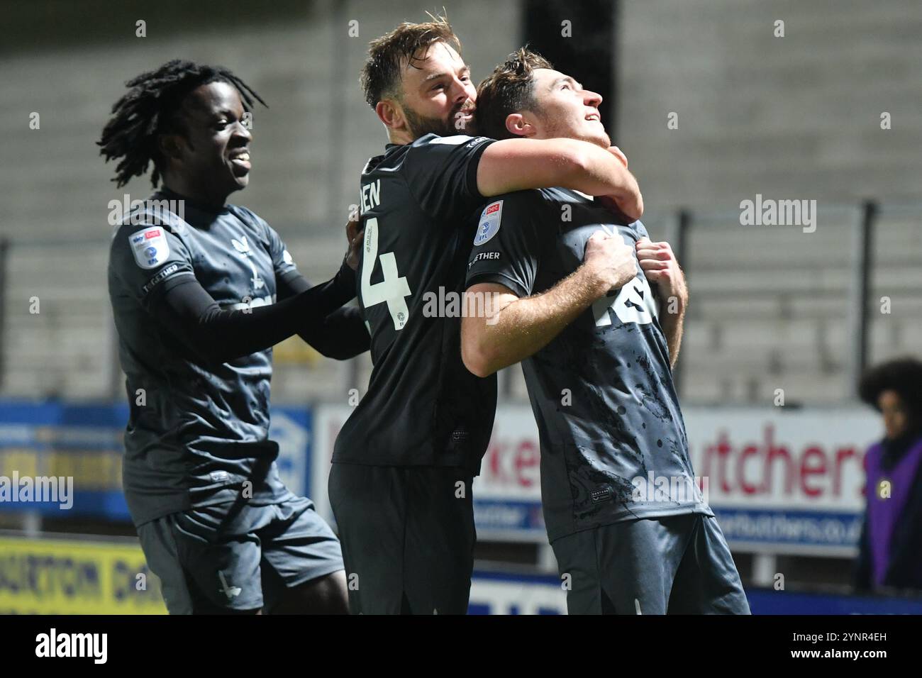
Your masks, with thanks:
<instances>
[{"instance_id":1,"label":"dark shorts of the bearded player wearing number 4","mask_svg":"<svg viewBox=\"0 0 922 678\"><path fill-rule=\"evenodd\" d=\"M467 613L477 541L471 480L456 468L333 465L349 612Z\"/></svg>"}]
</instances>

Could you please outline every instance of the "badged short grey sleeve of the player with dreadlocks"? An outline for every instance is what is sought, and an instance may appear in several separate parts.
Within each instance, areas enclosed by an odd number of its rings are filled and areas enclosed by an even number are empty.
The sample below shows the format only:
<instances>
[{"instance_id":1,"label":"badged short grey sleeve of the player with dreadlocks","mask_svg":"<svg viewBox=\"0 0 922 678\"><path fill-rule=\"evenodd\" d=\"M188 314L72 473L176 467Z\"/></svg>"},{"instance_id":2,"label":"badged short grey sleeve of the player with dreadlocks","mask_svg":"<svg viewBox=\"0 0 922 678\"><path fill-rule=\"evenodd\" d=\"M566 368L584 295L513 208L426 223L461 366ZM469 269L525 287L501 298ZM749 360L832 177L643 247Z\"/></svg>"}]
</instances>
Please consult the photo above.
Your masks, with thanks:
<instances>
[{"instance_id":1,"label":"badged short grey sleeve of the player with dreadlocks","mask_svg":"<svg viewBox=\"0 0 922 678\"><path fill-rule=\"evenodd\" d=\"M109 268L145 308L175 285L195 278L192 256L169 226L126 223L112 238Z\"/></svg>"}]
</instances>

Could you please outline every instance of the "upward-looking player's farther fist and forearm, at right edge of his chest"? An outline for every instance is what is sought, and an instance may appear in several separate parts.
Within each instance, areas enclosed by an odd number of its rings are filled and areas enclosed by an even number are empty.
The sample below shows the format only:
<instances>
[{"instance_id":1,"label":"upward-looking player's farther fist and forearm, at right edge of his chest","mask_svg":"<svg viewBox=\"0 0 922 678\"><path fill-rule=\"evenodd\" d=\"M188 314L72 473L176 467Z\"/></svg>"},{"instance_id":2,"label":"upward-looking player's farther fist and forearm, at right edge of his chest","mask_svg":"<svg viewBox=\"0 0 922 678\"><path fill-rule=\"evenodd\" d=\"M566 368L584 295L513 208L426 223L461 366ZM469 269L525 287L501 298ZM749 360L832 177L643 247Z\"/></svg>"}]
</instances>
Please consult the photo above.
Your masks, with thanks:
<instances>
[{"instance_id":1,"label":"upward-looking player's farther fist and forearm, at right edge of his chest","mask_svg":"<svg viewBox=\"0 0 922 678\"><path fill-rule=\"evenodd\" d=\"M646 280L656 283L659 291L659 327L663 328L669 347L669 365L675 367L679 359L685 309L689 303L688 285L679 261L666 243L651 243L649 238L637 241L637 261L644 269Z\"/></svg>"}]
</instances>

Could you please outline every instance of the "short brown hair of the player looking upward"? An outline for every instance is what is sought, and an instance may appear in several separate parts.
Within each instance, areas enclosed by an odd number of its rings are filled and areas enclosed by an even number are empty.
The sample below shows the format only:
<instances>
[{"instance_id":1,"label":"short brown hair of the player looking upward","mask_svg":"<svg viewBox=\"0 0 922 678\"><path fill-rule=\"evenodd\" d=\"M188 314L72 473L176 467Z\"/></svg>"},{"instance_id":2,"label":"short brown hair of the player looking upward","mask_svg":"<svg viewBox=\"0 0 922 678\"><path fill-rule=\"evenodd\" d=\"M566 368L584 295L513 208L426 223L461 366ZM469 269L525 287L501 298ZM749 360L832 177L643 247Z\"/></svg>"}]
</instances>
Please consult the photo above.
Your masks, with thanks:
<instances>
[{"instance_id":1,"label":"short brown hair of the player looking upward","mask_svg":"<svg viewBox=\"0 0 922 678\"><path fill-rule=\"evenodd\" d=\"M477 88L478 134L494 139L515 135L506 129L510 113L531 110L535 106L535 83L532 78L536 68L553 68L550 61L527 47L509 54L505 63L496 66Z\"/></svg>"}]
</instances>

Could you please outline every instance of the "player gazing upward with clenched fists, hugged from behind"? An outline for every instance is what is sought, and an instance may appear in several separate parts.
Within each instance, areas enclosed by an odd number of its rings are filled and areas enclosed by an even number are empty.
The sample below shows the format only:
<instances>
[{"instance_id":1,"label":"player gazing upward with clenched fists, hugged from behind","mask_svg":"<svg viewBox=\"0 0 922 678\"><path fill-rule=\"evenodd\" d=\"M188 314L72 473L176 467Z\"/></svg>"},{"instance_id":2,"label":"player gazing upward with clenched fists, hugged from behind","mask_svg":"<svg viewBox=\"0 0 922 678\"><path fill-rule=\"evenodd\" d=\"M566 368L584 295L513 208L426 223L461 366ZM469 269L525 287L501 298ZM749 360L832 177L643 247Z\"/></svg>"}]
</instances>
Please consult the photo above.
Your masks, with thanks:
<instances>
[{"instance_id":1,"label":"player gazing upward with clenched fists, hugged from behind","mask_svg":"<svg viewBox=\"0 0 922 678\"><path fill-rule=\"evenodd\" d=\"M512 54L478 93L479 128L497 138L610 146L602 98L538 54ZM462 320L462 354L480 376L523 361L568 611L749 613L672 383L688 291L668 243L565 188L496 196L470 221L468 292L494 303L491 317ZM631 258L617 293L596 299L580 260L600 230Z\"/></svg>"}]
</instances>

